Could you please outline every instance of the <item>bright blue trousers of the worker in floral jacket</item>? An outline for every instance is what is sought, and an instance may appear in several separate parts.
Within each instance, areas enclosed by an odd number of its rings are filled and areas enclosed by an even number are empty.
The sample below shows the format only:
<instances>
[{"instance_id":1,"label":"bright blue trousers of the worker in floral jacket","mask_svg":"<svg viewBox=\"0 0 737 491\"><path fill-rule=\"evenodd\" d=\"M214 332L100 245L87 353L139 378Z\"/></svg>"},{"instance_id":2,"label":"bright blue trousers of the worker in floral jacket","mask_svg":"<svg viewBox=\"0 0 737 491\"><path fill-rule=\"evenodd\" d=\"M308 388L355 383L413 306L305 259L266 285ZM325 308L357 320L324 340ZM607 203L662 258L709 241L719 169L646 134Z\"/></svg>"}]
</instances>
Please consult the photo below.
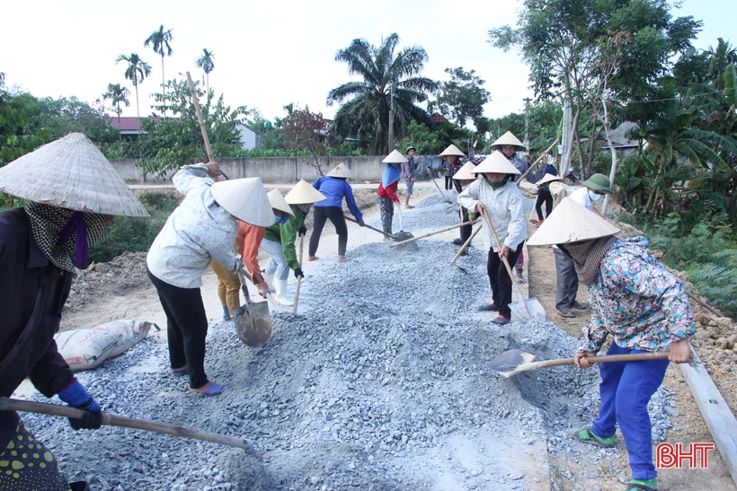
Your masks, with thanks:
<instances>
[{"instance_id":1,"label":"bright blue trousers of the worker in floral jacket","mask_svg":"<svg viewBox=\"0 0 737 491\"><path fill-rule=\"evenodd\" d=\"M612 343L607 355L646 353L637 349L625 349ZM658 476L653 465L653 436L647 403L662 384L668 360L644 362L617 362L599 364L601 383L599 416L591 425L591 431L608 438L617 431L616 424L625 437L629 467L633 479L652 479Z\"/></svg>"}]
</instances>

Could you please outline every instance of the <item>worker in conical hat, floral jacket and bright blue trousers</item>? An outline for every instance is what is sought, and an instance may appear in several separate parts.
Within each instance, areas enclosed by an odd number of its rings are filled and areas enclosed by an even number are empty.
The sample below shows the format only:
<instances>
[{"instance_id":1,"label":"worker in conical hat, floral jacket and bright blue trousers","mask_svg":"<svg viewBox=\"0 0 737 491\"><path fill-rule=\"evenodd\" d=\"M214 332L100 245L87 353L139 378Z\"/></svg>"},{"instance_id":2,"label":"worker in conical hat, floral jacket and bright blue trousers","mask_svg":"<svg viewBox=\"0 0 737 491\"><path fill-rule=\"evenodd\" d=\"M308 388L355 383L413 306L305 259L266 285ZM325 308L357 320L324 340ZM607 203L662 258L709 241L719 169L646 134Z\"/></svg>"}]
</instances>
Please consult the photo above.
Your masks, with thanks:
<instances>
[{"instance_id":1,"label":"worker in conical hat, floral jacket and bright blue trousers","mask_svg":"<svg viewBox=\"0 0 737 491\"><path fill-rule=\"evenodd\" d=\"M619 229L566 197L528 241L556 244L573 260L589 289L590 324L582 329L575 364L591 366L612 337L607 355L669 352L667 359L599 364L599 416L570 434L583 443L611 447L617 424L625 438L632 480L627 489L658 486L647 405L665 377L669 360L687 363L688 338L696 332L688 292L648 250L644 237L618 239Z\"/></svg>"}]
</instances>

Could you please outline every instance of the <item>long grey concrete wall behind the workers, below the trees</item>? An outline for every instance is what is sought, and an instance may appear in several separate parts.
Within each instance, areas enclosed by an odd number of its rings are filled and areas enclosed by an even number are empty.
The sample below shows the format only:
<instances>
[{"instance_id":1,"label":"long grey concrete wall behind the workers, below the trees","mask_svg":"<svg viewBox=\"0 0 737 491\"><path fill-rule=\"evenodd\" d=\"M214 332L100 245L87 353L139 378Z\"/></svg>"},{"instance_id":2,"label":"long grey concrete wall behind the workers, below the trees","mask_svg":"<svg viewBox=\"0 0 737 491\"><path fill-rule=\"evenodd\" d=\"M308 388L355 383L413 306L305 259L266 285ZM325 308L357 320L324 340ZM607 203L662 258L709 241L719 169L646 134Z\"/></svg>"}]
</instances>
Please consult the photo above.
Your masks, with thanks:
<instances>
[{"instance_id":1,"label":"long grey concrete wall behind the workers, below the trees","mask_svg":"<svg viewBox=\"0 0 737 491\"><path fill-rule=\"evenodd\" d=\"M327 157L320 158L320 165L323 172L327 173L341 162L345 162L349 169L353 171L354 182L378 182L384 171L384 164L381 162L383 156L371 157L330 157L330 164L327 163ZM440 157L423 156L424 162L432 162L433 168L440 168ZM152 175L144 175L143 171L138 168L135 163L143 162L144 159L125 159L112 160L113 168L120 173L120 176L129 182L171 182L170 178L173 172L168 176L169 179L156 179ZM436 162L437 161L437 162ZM307 180L312 182L320 177L320 174L314 167L315 161L306 157L249 157L249 158L227 158L218 159L220 169L222 169L230 179L253 178L260 177L262 181L269 183L291 183L298 180ZM437 165L437 167L436 167Z\"/></svg>"}]
</instances>

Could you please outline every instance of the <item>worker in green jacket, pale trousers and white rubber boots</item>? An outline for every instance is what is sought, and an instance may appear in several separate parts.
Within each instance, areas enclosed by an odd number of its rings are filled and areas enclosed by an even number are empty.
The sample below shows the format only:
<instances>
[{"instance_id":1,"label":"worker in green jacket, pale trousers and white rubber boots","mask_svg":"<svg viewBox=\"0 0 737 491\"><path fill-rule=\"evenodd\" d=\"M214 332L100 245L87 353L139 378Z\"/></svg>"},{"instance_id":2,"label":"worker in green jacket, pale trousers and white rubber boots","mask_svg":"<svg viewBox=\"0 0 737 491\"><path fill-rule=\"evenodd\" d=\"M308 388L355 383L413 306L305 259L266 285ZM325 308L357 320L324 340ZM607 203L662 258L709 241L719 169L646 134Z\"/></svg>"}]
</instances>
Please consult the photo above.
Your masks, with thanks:
<instances>
[{"instance_id":1,"label":"worker in green jacket, pale trousers and white rubber boots","mask_svg":"<svg viewBox=\"0 0 737 491\"><path fill-rule=\"evenodd\" d=\"M294 304L287 296L289 269L294 272L294 277L305 277L297 260L294 241L297 240L297 235L304 236L307 233L306 217L312 206L324 198L324 194L310 186L306 180L300 180L284 197L289 203L294 219L287 221L286 224L271 225L263 236L261 247L269 254L269 263L264 269L263 277L267 283L273 281L276 301L282 305Z\"/></svg>"}]
</instances>

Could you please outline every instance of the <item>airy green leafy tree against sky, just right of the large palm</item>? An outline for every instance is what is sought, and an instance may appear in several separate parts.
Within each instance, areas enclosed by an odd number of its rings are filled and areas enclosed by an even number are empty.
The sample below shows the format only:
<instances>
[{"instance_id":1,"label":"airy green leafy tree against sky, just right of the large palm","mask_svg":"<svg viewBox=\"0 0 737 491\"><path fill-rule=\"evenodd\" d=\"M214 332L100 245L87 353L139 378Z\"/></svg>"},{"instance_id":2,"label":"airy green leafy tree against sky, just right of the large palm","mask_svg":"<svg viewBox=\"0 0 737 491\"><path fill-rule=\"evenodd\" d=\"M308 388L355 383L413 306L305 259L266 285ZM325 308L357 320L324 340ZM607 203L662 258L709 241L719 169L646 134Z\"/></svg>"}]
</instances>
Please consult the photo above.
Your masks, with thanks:
<instances>
[{"instance_id":1,"label":"airy green leafy tree against sky, just right of the large palm","mask_svg":"<svg viewBox=\"0 0 737 491\"><path fill-rule=\"evenodd\" d=\"M446 118L452 118L459 127L466 127L466 120L474 122L476 129L483 125L484 104L491 101L490 93L482 85L485 81L475 76L475 70L466 72L463 66L446 68L449 82L440 84L438 109ZM480 129L480 132L483 132Z\"/></svg>"}]
</instances>

